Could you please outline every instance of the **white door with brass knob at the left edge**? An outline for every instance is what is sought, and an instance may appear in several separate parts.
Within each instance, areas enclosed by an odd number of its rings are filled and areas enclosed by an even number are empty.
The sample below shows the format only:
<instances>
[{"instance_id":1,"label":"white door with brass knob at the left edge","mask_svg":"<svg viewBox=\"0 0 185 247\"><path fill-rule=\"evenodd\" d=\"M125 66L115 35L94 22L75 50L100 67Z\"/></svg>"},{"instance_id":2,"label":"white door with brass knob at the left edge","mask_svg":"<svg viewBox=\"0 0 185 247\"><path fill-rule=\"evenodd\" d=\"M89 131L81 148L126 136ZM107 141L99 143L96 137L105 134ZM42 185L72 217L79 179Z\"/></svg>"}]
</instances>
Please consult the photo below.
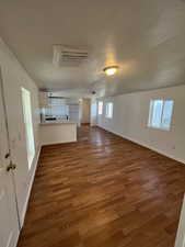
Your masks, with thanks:
<instances>
[{"instance_id":1,"label":"white door with brass knob at the left edge","mask_svg":"<svg viewBox=\"0 0 185 247\"><path fill-rule=\"evenodd\" d=\"M1 78L0 78L1 79ZM15 247L19 237L13 170L10 168L9 141L0 81L0 247Z\"/></svg>"}]
</instances>

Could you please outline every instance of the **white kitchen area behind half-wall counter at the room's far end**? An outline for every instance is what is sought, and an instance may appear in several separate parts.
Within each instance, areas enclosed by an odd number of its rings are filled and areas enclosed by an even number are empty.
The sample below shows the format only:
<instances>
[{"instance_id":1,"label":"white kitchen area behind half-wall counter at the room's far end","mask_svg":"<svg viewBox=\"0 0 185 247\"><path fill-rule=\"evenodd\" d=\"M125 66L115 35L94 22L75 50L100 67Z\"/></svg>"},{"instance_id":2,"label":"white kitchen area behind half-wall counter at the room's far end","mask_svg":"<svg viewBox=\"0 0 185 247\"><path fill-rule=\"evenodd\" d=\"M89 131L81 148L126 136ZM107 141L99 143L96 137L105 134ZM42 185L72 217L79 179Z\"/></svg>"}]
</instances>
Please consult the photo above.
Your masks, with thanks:
<instances>
[{"instance_id":1,"label":"white kitchen area behind half-wall counter at the room's far end","mask_svg":"<svg viewBox=\"0 0 185 247\"><path fill-rule=\"evenodd\" d=\"M90 99L39 92L42 145L77 142L77 128L90 123Z\"/></svg>"}]
</instances>

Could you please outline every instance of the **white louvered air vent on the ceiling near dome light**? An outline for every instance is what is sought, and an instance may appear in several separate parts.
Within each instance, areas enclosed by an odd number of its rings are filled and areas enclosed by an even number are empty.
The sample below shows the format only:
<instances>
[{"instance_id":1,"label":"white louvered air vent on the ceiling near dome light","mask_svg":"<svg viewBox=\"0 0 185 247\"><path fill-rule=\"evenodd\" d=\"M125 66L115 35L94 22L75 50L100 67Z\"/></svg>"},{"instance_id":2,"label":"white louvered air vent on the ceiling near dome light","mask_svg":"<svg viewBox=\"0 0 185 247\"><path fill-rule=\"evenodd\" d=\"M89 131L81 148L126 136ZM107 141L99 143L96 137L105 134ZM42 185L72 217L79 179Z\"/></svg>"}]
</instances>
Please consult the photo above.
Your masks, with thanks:
<instances>
[{"instance_id":1,"label":"white louvered air vent on the ceiling near dome light","mask_svg":"<svg viewBox=\"0 0 185 247\"><path fill-rule=\"evenodd\" d=\"M62 45L54 45L54 65L60 66L79 66L88 59L88 52L78 48L71 48Z\"/></svg>"}]
</instances>

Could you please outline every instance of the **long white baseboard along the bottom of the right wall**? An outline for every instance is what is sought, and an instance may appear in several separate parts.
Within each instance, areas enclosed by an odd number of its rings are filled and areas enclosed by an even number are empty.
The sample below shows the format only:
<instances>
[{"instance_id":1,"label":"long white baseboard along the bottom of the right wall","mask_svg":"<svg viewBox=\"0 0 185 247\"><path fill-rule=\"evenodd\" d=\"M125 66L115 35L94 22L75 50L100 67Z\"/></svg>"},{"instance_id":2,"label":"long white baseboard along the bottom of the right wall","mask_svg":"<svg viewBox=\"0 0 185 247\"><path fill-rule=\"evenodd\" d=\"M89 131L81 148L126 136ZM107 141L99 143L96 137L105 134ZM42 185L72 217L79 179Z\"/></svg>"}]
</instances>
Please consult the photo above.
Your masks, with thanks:
<instances>
[{"instance_id":1,"label":"long white baseboard along the bottom of the right wall","mask_svg":"<svg viewBox=\"0 0 185 247\"><path fill-rule=\"evenodd\" d=\"M152 146L150 146L150 145L148 145L148 144L146 144L146 143L143 143L143 142L140 142L140 141L138 141L138 139L130 138L130 137L128 137L128 136L124 136L124 135L122 135L122 134L119 134L119 133L117 133L117 132L111 131L111 130L105 128L105 127L103 127L103 126L101 126L101 125L97 125L97 126L101 127L101 128L103 128L103 130L105 130L105 131L107 131L107 132L111 132L111 133L113 133L113 134L115 134L115 135L118 135L118 136L125 138L125 139L128 139L128 141L130 141L130 142L132 142L132 143L136 143L136 144L138 144L138 145L140 145L140 146L147 147L147 148L149 148L149 149L151 149L151 150L157 151L157 153L160 154L160 155L163 155L163 156L165 156L165 157L167 157L167 158L174 159L174 160L176 160L176 161L182 162L183 165L185 165L185 160L183 160L183 159L181 159L181 158L177 158L177 157L175 157L175 156L173 156L173 155L171 155L171 154L167 154L167 153L164 153L164 151L162 151L162 150L159 150L159 149L157 149L157 148L154 148L154 147L152 147Z\"/></svg>"}]
</instances>

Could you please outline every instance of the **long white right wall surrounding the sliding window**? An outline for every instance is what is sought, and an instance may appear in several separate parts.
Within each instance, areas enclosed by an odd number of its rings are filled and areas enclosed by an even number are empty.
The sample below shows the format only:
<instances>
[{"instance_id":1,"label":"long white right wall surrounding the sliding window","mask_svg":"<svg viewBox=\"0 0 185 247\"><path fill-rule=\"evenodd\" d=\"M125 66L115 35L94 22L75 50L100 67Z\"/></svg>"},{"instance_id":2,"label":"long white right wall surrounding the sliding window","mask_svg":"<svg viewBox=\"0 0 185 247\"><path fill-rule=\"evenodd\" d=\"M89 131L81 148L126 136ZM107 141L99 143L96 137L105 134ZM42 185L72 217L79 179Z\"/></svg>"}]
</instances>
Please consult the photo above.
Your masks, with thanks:
<instances>
[{"instance_id":1,"label":"long white right wall surrounding the sliding window","mask_svg":"<svg viewBox=\"0 0 185 247\"><path fill-rule=\"evenodd\" d=\"M174 100L170 132L147 126L150 100L159 98ZM104 114L105 103L114 103L113 119L99 115L99 126L185 162L185 86L123 94L103 101Z\"/></svg>"}]
</instances>

